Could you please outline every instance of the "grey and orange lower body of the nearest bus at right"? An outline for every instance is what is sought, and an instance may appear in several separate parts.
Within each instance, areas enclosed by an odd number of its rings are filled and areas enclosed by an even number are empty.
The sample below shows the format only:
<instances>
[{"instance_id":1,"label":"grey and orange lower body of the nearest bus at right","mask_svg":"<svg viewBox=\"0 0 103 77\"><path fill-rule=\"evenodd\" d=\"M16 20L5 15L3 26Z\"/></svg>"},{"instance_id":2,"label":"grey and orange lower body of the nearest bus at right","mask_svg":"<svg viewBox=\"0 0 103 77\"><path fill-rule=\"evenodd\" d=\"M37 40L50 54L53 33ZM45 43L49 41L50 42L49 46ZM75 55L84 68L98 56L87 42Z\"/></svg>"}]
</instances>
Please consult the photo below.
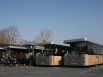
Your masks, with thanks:
<instances>
[{"instance_id":1,"label":"grey and orange lower body of the nearest bus at right","mask_svg":"<svg viewBox=\"0 0 103 77\"><path fill-rule=\"evenodd\" d=\"M103 55L65 55L64 65L70 66L91 66L103 64Z\"/></svg>"}]
</instances>

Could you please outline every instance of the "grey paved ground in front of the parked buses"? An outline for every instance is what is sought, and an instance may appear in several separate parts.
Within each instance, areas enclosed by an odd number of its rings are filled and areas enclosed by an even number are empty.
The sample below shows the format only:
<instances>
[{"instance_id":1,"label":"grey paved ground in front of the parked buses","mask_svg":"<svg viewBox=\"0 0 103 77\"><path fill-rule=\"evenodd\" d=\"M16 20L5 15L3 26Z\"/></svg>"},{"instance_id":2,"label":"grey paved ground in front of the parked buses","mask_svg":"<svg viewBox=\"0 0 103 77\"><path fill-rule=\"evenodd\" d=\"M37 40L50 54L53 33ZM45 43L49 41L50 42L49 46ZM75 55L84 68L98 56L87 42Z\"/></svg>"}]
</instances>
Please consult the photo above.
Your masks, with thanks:
<instances>
[{"instance_id":1,"label":"grey paved ground in front of the parked buses","mask_svg":"<svg viewBox=\"0 0 103 77\"><path fill-rule=\"evenodd\" d=\"M103 67L0 66L0 77L103 77Z\"/></svg>"}]
</instances>

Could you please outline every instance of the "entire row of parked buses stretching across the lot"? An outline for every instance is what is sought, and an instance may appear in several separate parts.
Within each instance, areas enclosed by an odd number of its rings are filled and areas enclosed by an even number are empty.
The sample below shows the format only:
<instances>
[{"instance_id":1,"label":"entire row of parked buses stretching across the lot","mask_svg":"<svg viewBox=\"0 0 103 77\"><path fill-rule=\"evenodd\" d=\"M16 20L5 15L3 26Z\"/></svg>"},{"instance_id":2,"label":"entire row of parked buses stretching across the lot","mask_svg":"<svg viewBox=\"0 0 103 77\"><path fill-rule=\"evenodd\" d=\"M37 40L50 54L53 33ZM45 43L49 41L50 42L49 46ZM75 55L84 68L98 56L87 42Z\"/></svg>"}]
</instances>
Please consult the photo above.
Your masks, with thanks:
<instances>
[{"instance_id":1,"label":"entire row of parked buses stretching across the lot","mask_svg":"<svg viewBox=\"0 0 103 77\"><path fill-rule=\"evenodd\" d=\"M103 45L88 38L64 40L63 45L39 43L2 45L0 64L37 66L92 66L103 64Z\"/></svg>"}]
</instances>

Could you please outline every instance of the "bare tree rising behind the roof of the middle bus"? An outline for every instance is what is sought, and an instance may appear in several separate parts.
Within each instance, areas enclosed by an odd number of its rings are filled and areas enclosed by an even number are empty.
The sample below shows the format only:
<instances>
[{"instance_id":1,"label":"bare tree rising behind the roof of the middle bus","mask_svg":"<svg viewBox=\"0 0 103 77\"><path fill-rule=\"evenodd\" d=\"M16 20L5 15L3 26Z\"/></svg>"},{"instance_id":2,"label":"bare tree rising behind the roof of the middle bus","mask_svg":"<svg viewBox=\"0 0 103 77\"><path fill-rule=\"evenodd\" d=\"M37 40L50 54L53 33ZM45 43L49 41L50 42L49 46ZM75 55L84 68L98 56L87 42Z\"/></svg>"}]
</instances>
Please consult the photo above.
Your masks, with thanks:
<instances>
[{"instance_id":1,"label":"bare tree rising behind the roof of the middle bus","mask_svg":"<svg viewBox=\"0 0 103 77\"><path fill-rule=\"evenodd\" d=\"M39 35L35 38L34 42L36 43L46 43L51 42L52 40L52 31L50 29L41 30Z\"/></svg>"}]
</instances>

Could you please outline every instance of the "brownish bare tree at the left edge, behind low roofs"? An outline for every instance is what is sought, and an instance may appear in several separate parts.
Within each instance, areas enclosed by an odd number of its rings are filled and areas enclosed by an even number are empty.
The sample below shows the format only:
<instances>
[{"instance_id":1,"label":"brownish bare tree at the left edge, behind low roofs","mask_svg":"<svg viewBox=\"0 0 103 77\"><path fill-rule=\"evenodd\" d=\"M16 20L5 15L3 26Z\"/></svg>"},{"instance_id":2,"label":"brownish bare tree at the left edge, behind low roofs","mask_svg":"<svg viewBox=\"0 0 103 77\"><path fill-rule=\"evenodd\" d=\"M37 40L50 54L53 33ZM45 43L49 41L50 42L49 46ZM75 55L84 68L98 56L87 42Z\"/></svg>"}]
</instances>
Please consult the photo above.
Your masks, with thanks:
<instances>
[{"instance_id":1,"label":"brownish bare tree at the left edge, behind low roofs","mask_svg":"<svg viewBox=\"0 0 103 77\"><path fill-rule=\"evenodd\" d=\"M20 34L15 26L10 26L0 31L0 37L2 43L16 44Z\"/></svg>"}]
</instances>

